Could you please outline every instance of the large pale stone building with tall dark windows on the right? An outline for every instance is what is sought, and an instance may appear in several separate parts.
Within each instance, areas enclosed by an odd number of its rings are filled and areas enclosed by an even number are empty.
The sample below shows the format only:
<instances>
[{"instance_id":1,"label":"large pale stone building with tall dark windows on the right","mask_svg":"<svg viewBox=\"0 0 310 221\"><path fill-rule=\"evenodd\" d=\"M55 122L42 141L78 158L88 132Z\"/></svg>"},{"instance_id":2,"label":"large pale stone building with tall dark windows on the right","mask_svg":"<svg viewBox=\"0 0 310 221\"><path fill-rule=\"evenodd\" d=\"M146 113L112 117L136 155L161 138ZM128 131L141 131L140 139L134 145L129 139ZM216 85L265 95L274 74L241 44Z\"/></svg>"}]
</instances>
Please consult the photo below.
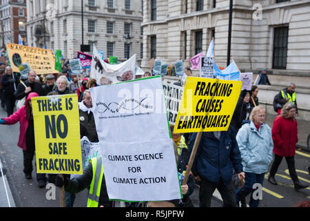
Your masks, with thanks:
<instances>
[{"instance_id":1,"label":"large pale stone building with tall dark windows on the right","mask_svg":"<svg viewBox=\"0 0 310 221\"><path fill-rule=\"evenodd\" d=\"M231 59L243 70L310 70L309 0L235 0ZM214 37L216 63L227 64L229 0L149 0L143 9L143 62L168 64L207 52Z\"/></svg>"}]
</instances>

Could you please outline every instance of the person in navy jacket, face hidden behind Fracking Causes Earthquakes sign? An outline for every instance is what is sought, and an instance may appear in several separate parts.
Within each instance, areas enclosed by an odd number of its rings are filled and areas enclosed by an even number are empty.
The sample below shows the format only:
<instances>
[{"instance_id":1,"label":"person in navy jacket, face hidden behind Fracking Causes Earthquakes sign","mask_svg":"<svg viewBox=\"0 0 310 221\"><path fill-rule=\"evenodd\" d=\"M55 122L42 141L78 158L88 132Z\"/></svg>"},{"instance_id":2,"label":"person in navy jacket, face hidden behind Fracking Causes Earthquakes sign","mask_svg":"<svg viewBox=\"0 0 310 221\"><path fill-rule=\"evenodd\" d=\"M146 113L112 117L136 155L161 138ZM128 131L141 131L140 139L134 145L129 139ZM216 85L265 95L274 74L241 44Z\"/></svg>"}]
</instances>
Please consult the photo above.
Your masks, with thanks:
<instances>
[{"instance_id":1,"label":"person in navy jacket, face hidden behind Fracking Causes Earthquakes sign","mask_svg":"<svg viewBox=\"0 0 310 221\"><path fill-rule=\"evenodd\" d=\"M196 135L194 133L189 141L190 152ZM204 132L192 166L192 173L200 182L200 207L211 205L215 189L223 198L223 206L236 207L236 189L231 179L233 167L240 180L245 177L234 128L229 126L228 131Z\"/></svg>"}]
</instances>

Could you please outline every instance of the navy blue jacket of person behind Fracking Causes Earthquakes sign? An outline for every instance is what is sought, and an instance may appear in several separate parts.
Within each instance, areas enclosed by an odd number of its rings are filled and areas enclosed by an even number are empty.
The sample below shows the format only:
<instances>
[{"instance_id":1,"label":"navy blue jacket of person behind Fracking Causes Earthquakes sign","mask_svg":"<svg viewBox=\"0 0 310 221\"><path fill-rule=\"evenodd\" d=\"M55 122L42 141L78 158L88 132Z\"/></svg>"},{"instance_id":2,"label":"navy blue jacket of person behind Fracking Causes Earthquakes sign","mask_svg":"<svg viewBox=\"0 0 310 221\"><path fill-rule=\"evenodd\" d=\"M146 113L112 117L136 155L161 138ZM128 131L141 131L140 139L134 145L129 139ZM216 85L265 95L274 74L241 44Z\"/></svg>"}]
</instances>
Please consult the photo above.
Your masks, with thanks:
<instances>
[{"instance_id":1,"label":"navy blue jacket of person behind Fracking Causes Earthquakes sign","mask_svg":"<svg viewBox=\"0 0 310 221\"><path fill-rule=\"evenodd\" d=\"M192 152L197 133L194 133L189 142L189 151ZM227 184L233 175L242 172L241 155L236 142L236 132L229 128L220 133L218 140L213 132L205 132L201 137L196 153L192 172L209 182Z\"/></svg>"}]
</instances>

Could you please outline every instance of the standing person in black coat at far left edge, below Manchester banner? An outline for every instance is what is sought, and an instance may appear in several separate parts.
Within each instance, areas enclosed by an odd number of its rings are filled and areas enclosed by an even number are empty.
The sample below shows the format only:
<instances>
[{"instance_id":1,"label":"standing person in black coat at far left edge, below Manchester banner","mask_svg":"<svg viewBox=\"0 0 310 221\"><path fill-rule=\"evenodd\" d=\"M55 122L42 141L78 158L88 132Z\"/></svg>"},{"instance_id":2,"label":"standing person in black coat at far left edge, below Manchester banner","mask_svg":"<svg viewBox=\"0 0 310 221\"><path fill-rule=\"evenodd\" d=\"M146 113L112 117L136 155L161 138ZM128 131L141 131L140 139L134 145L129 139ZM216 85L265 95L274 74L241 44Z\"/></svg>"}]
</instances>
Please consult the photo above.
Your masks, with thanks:
<instances>
[{"instance_id":1,"label":"standing person in black coat at far left edge, below Manchester banner","mask_svg":"<svg viewBox=\"0 0 310 221\"><path fill-rule=\"evenodd\" d=\"M14 76L10 66L6 67L5 74L1 77L1 83L3 86L3 100L9 117L14 112L16 101L14 92L19 84L19 81L17 77Z\"/></svg>"}]
</instances>

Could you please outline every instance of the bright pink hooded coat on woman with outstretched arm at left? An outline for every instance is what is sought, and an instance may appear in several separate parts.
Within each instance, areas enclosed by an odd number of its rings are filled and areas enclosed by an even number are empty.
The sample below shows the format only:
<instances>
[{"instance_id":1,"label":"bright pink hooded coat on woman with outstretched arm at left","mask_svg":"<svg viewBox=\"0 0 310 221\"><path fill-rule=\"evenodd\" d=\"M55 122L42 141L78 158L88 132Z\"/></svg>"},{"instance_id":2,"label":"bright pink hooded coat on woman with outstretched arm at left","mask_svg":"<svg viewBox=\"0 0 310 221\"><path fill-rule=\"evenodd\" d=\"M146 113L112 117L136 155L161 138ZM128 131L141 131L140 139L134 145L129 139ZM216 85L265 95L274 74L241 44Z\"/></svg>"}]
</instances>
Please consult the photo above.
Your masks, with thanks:
<instances>
[{"instance_id":1,"label":"bright pink hooded coat on woman with outstretched arm at left","mask_svg":"<svg viewBox=\"0 0 310 221\"><path fill-rule=\"evenodd\" d=\"M27 103L31 99L31 97L39 97L39 95L37 93L30 93L28 95L26 101L25 101L24 106L19 108L19 110L17 110L17 112L10 115L10 117L3 118L4 124L11 125L11 124L16 124L17 122L19 122L19 124L20 124L20 126L19 126L19 142L18 142L17 146L22 148L23 151L25 151L27 149L25 134L26 134L28 124L29 124L26 113L25 113L25 106L27 105Z\"/></svg>"}]
</instances>

